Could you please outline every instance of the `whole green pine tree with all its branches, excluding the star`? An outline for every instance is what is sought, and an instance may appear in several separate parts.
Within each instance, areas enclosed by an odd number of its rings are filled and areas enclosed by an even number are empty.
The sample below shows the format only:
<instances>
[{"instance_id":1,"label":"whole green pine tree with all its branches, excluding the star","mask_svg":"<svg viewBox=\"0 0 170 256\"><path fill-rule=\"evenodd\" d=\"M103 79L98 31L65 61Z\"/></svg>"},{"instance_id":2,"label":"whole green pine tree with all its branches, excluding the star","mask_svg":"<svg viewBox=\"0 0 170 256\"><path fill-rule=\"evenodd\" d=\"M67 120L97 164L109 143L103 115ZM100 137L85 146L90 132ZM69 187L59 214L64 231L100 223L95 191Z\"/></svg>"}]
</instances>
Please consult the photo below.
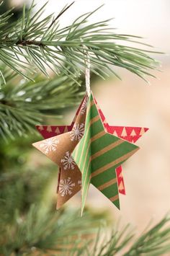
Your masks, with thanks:
<instances>
[{"instance_id":1,"label":"whole green pine tree with all its branches, excluding the star","mask_svg":"<svg viewBox=\"0 0 170 256\"><path fill-rule=\"evenodd\" d=\"M110 30L109 20L89 23L89 16L98 9L78 17L68 27L60 27L61 15L73 10L73 4L65 6L57 17L42 18L46 4L35 12L32 2L29 7L23 6L20 14L7 10L6 3L1 4L0 15L0 254L169 252L169 216L140 237L129 225L120 230L115 224L109 237L104 237L109 222L107 212L86 208L80 218L74 207L55 211L55 198L50 200L49 195L50 187L56 183L56 167L37 156L31 146L32 141L40 139L35 125L50 123L53 118L62 123L63 110L81 101L86 53L91 80L110 74L118 77L115 66L146 79L158 67L150 56L153 51L125 46L138 37L116 34ZM50 129L49 126L47 131ZM127 136L125 129L122 136Z\"/></svg>"}]
</instances>

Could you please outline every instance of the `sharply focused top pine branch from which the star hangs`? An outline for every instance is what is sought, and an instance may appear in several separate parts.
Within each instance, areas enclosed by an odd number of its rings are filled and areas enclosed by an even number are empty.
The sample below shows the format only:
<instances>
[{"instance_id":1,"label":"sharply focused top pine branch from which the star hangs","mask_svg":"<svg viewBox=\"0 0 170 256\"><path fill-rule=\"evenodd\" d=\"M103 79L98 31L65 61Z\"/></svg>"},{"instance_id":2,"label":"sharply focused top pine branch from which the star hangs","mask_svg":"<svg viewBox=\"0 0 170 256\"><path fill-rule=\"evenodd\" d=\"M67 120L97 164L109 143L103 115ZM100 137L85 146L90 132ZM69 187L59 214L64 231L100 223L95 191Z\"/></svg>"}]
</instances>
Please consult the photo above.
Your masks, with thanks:
<instances>
[{"instance_id":1,"label":"sharply focused top pine branch from which the star hangs","mask_svg":"<svg viewBox=\"0 0 170 256\"><path fill-rule=\"evenodd\" d=\"M122 44L133 40L136 43L136 38L140 37L115 33L109 28L109 20L89 24L87 19L99 8L78 17L72 25L60 28L58 19L72 4L65 6L56 18L51 14L41 19L46 4L35 14L32 14L33 2L27 12L24 6L22 18L17 22L9 23L12 11L0 16L0 60L15 72L32 79L32 73L36 72L33 64L46 76L48 69L56 73L63 71L78 83L76 77L86 66L85 47L90 56L91 71L102 78L109 72L115 74L111 69L114 66L128 69L143 79L146 75L152 76L151 70L156 69L158 62L148 53L154 52ZM63 59L71 69L63 66Z\"/></svg>"}]
</instances>

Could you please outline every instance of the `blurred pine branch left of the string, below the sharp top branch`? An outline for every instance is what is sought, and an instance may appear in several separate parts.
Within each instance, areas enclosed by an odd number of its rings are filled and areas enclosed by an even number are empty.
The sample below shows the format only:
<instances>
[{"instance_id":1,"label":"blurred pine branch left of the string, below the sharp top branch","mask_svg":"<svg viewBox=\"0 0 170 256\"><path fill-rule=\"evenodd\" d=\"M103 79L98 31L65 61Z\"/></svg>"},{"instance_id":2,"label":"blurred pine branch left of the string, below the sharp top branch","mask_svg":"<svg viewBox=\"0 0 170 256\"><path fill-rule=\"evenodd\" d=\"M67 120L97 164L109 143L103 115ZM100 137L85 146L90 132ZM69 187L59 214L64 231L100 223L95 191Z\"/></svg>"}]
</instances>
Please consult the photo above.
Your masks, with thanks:
<instances>
[{"instance_id":1,"label":"blurred pine branch left of the string, below the sharp top branch","mask_svg":"<svg viewBox=\"0 0 170 256\"><path fill-rule=\"evenodd\" d=\"M0 136L4 139L35 132L35 124L47 116L61 118L60 110L78 105L81 98L80 87L63 73L53 79L35 76L33 82L7 69L4 77L7 86L0 91Z\"/></svg>"}]
</instances>

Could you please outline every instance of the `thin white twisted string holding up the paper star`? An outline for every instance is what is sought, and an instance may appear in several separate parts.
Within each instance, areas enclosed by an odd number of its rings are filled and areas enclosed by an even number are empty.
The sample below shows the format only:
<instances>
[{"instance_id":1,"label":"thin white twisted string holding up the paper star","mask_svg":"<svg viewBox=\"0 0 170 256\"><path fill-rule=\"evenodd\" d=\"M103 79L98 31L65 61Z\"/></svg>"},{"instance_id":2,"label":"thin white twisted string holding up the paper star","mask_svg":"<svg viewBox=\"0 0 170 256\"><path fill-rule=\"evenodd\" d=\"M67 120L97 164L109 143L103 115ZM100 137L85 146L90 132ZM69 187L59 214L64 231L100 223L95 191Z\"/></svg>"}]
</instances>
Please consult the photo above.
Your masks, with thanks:
<instances>
[{"instance_id":1,"label":"thin white twisted string holding up the paper star","mask_svg":"<svg viewBox=\"0 0 170 256\"><path fill-rule=\"evenodd\" d=\"M83 42L83 40L81 40L81 42ZM84 62L86 64L86 69L85 69L86 93L89 97L90 93L91 93L91 89L90 89L90 56L89 56L89 53L86 50L84 45L83 45L83 48L84 48Z\"/></svg>"}]
</instances>

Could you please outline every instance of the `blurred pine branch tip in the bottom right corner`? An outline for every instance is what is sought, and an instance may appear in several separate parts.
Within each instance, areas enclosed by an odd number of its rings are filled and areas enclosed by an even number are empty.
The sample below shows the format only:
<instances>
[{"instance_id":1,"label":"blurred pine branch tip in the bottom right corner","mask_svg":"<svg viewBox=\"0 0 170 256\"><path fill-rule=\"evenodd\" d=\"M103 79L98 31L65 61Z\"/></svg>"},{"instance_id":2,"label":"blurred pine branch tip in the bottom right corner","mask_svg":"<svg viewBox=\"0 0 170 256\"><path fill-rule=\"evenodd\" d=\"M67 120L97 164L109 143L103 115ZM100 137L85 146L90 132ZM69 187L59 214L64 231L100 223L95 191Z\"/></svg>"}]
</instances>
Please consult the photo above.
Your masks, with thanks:
<instances>
[{"instance_id":1,"label":"blurred pine branch tip in the bottom right corner","mask_svg":"<svg viewBox=\"0 0 170 256\"><path fill-rule=\"evenodd\" d=\"M144 231L140 237L135 238L135 232L130 225L125 226L121 231L117 227L112 231L109 240L98 233L92 255L94 256L158 256L170 252L170 217L166 216L158 224L148 231ZM135 239L135 242L133 242ZM133 244L133 245L131 245ZM127 250L127 247L130 249ZM123 251L125 253L123 253Z\"/></svg>"}]
</instances>

